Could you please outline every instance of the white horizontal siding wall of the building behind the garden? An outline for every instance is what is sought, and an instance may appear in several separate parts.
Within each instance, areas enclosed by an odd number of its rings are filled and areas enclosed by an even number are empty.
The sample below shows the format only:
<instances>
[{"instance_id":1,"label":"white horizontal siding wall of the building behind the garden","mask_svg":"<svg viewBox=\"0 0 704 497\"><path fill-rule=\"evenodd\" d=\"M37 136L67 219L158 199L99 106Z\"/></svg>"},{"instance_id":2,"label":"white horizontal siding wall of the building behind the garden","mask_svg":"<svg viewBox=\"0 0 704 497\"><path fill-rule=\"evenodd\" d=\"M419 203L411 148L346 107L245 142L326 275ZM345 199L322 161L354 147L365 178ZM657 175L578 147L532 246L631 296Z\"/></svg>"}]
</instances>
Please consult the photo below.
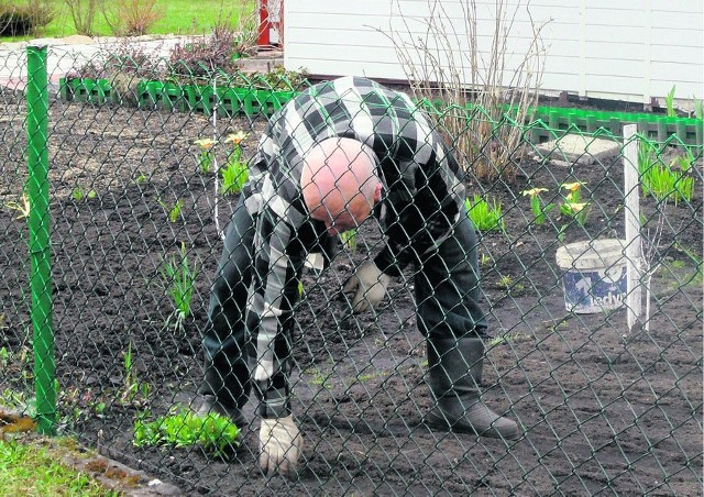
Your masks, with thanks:
<instances>
[{"instance_id":1,"label":"white horizontal siding wall of the building behind the garden","mask_svg":"<svg viewBox=\"0 0 704 497\"><path fill-rule=\"evenodd\" d=\"M649 103L676 85L679 99L704 98L703 0L509 0L519 4L509 36L505 82L531 40L530 16L549 21L542 90ZM466 0L285 0L285 65L324 76L365 75L406 79L394 43L422 35L429 5L441 5L457 33L462 65L468 37ZM494 32L494 1L476 0L477 44L487 53ZM513 15L513 14L512 14ZM447 54L447 51L440 49Z\"/></svg>"}]
</instances>

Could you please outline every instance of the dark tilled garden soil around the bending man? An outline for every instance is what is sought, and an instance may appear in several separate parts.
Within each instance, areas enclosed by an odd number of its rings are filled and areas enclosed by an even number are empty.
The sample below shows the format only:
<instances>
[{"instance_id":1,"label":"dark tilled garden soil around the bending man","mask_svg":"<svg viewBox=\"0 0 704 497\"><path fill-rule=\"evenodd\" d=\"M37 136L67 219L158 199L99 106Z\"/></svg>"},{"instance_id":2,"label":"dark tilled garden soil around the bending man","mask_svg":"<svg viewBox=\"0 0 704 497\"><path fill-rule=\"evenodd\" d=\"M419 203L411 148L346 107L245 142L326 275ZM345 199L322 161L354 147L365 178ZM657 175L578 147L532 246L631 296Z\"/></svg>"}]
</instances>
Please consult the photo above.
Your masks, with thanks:
<instances>
[{"instance_id":1,"label":"dark tilled garden soil around the bending man","mask_svg":"<svg viewBox=\"0 0 704 497\"><path fill-rule=\"evenodd\" d=\"M2 203L26 178L21 100L1 95ZM413 278L394 283L378 312L353 316L340 284L380 234L367 222L354 254L341 252L320 277L307 274L298 310L292 380L305 433L295 482L257 466L254 404L244 448L232 461L199 449L135 449L138 415L189 406L201 375L200 331L221 251L212 177L197 173L193 141L212 134L200 115L52 102L51 187L54 329L62 429L186 493L212 495L701 495L702 490L702 198L667 210L653 278L649 330L629 333L626 311L565 310L557 232L564 219L531 223L520 191L585 183L592 212L565 242L623 238L620 161L573 167L525 158L510 183L472 181L471 192L502 202L505 232L481 234L491 334L484 400L517 420L525 437L505 442L435 432L425 344L414 316ZM220 119L221 133L251 130L253 152L264 119ZM701 151L698 152L701 154ZM694 176L702 191L700 162ZM86 194L72 195L80 187ZM176 222L160 202L184 201ZM235 197L220 200L223 224ZM656 223L652 198L644 214ZM1 389L31 391L28 232L0 210ZM173 307L160 268L182 242L198 267L185 332L165 327ZM676 242L673 243L673 242ZM141 395L125 393L124 354ZM31 357L31 354L30 354ZM105 402L105 409L100 406Z\"/></svg>"}]
</instances>

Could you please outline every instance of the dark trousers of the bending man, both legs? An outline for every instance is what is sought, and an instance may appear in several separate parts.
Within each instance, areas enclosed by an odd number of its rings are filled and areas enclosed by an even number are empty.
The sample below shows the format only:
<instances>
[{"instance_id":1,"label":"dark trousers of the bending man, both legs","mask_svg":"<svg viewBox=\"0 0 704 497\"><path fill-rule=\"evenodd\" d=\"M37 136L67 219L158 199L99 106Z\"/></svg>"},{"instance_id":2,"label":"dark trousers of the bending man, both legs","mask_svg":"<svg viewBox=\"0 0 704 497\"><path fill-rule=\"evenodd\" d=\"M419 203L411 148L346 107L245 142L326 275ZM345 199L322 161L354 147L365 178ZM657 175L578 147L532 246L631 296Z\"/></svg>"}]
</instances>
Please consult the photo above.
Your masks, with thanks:
<instances>
[{"instance_id":1,"label":"dark trousers of the bending man, both legs","mask_svg":"<svg viewBox=\"0 0 704 497\"><path fill-rule=\"evenodd\" d=\"M202 342L206 376L199 391L240 408L246 404L252 386L248 355L253 354L253 346L245 312L252 283L254 230L254 220L241 201L228 225ZM479 306L476 234L469 218L463 218L453 234L415 266L420 332L430 340L483 336L486 317Z\"/></svg>"}]
</instances>

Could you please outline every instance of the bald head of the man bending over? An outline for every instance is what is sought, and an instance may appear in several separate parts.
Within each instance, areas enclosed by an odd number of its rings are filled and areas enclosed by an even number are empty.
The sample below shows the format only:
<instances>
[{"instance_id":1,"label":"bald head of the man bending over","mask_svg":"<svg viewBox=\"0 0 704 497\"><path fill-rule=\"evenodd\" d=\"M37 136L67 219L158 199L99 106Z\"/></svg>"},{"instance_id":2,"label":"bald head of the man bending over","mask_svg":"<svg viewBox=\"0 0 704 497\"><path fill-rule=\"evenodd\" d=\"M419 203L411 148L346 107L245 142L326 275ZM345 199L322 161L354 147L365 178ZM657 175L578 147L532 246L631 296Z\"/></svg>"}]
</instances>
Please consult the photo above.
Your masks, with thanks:
<instances>
[{"instance_id":1,"label":"bald head of the man bending over","mask_svg":"<svg viewBox=\"0 0 704 497\"><path fill-rule=\"evenodd\" d=\"M304 157L300 186L312 219L328 231L354 228L381 199L382 185L370 147L352 139L327 139Z\"/></svg>"}]
</instances>

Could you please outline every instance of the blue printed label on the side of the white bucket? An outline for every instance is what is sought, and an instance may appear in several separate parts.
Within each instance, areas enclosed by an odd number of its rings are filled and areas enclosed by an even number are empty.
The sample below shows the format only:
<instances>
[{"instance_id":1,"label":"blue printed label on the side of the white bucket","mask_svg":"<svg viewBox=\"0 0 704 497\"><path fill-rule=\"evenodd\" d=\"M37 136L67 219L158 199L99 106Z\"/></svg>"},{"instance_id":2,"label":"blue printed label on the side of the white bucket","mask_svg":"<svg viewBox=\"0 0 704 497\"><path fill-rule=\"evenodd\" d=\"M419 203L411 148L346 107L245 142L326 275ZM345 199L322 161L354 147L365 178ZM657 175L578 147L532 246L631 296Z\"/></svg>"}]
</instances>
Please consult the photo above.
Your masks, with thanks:
<instances>
[{"instance_id":1,"label":"blue printed label on the side of the white bucket","mask_svg":"<svg viewBox=\"0 0 704 497\"><path fill-rule=\"evenodd\" d=\"M617 309L626 297L626 265L607 269L570 270L562 275L564 303L578 313Z\"/></svg>"}]
</instances>

